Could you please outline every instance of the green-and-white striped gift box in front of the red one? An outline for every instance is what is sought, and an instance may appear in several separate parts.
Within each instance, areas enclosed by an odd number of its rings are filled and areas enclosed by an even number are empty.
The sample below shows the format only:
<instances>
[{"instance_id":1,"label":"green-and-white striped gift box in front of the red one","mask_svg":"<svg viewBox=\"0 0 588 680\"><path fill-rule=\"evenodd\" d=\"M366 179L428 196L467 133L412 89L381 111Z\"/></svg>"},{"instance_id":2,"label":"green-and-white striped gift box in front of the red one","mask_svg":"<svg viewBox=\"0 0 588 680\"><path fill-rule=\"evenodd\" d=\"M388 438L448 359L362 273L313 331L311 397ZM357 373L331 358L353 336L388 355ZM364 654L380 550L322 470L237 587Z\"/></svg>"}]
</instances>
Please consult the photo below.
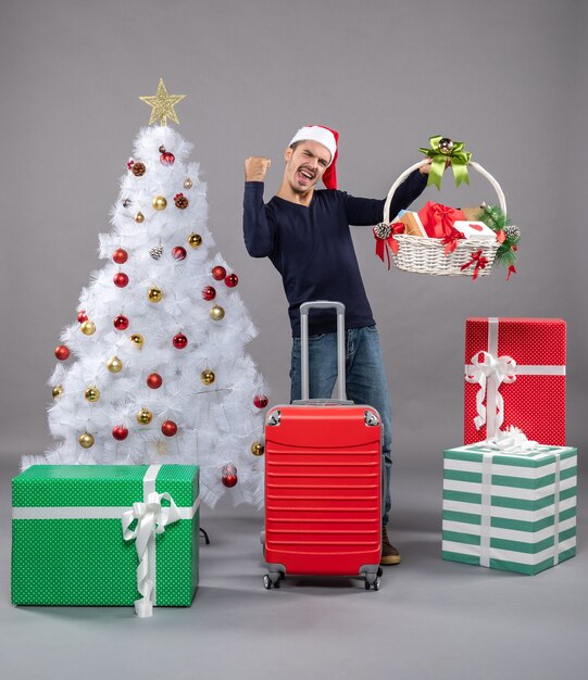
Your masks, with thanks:
<instances>
[{"instance_id":1,"label":"green-and-white striped gift box in front of the red one","mask_svg":"<svg viewBox=\"0 0 588 680\"><path fill-rule=\"evenodd\" d=\"M577 450L443 456L442 558L534 575L576 554Z\"/></svg>"}]
</instances>

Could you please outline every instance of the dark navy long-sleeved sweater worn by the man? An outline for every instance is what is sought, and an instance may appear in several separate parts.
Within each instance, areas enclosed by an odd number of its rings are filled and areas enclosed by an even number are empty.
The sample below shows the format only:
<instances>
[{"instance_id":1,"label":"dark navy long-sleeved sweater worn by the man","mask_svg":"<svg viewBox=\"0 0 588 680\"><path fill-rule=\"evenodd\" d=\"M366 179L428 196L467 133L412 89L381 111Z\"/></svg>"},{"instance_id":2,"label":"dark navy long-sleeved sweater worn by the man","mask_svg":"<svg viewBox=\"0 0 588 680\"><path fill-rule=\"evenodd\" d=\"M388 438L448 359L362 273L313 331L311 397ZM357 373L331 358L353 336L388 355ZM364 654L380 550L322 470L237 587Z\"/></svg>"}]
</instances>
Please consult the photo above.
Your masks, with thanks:
<instances>
[{"instance_id":1,"label":"dark navy long-sleeved sweater worn by the man","mask_svg":"<svg viewBox=\"0 0 588 680\"><path fill-rule=\"evenodd\" d=\"M418 171L409 175L393 197L392 218L422 193L426 181ZM263 187L262 181L245 182L245 244L251 256L270 257L280 273L292 336L300 336L300 305L311 300L342 302L346 328L372 326L375 322L349 225L378 224L386 201L360 199L328 189L315 190L308 206L277 196L264 204ZM309 333L334 332L335 318L330 310L312 311Z\"/></svg>"}]
</instances>

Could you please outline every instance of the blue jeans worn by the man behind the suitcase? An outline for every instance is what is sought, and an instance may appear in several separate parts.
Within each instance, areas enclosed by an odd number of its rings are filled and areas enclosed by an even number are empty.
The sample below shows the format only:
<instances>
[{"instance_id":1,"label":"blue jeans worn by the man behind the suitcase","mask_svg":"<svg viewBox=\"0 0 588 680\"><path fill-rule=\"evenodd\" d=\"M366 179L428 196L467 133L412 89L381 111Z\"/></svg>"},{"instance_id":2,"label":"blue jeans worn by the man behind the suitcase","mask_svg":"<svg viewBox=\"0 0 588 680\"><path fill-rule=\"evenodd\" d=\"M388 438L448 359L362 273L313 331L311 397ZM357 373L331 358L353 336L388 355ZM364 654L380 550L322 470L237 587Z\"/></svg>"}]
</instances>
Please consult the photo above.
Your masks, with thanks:
<instances>
[{"instance_id":1,"label":"blue jeans worn by the man behind the suitcase","mask_svg":"<svg viewBox=\"0 0 588 680\"><path fill-rule=\"evenodd\" d=\"M300 338L293 338L290 368L290 399L301 398ZM309 337L310 398L330 399L337 381L337 333L326 332ZM355 404L368 404L381 417L384 445L381 448L386 471L386 501L381 521L388 524L390 514L390 477L392 471L391 407L386 369L381 358L378 331L375 326L346 330L346 391L347 399Z\"/></svg>"}]
</instances>

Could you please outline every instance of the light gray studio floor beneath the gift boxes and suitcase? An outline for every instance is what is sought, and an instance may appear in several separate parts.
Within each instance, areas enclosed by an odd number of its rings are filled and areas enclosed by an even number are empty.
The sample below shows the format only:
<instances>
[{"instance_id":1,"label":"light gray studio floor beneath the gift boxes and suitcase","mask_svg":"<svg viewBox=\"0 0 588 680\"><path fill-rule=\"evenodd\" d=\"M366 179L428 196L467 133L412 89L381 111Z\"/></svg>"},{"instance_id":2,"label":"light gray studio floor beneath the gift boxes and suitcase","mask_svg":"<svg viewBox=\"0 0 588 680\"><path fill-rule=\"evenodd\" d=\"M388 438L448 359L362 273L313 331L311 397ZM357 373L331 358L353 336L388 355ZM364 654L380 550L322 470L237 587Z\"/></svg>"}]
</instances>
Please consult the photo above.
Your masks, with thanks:
<instances>
[{"instance_id":1,"label":"light gray studio floor beneath the gift boxes and suitcase","mask_svg":"<svg viewBox=\"0 0 588 680\"><path fill-rule=\"evenodd\" d=\"M439 559L440 479L404 473L379 592L351 579L287 579L265 591L262 515L204 512L189 609L10 605L10 479L0 467L0 673L5 680L170 678L534 680L586 677L587 513L578 555L535 577ZM580 483L587 488L586 477Z\"/></svg>"}]
</instances>

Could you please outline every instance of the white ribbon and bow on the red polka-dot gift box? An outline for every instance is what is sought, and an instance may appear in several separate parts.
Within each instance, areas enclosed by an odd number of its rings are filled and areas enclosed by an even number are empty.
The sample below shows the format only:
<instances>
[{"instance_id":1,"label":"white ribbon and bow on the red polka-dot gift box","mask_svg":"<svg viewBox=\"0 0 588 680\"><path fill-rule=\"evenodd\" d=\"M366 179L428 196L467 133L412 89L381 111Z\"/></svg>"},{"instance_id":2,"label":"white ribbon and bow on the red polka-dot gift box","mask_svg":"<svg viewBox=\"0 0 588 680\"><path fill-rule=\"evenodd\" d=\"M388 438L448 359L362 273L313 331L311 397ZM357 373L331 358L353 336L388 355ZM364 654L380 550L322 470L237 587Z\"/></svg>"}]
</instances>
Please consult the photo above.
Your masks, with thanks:
<instances>
[{"instance_id":1,"label":"white ribbon and bow on the red polka-dot gift box","mask_svg":"<svg viewBox=\"0 0 588 680\"><path fill-rule=\"evenodd\" d=\"M465 380L479 385L476 394L477 416L474 425L479 430L486 425L486 437L495 437L504 423L504 400L499 391L502 382L514 382L516 376L565 376L565 366L517 365L512 356L498 356L497 316L488 318L488 351L480 350L465 365ZM486 406L484 401L486 400Z\"/></svg>"}]
</instances>

